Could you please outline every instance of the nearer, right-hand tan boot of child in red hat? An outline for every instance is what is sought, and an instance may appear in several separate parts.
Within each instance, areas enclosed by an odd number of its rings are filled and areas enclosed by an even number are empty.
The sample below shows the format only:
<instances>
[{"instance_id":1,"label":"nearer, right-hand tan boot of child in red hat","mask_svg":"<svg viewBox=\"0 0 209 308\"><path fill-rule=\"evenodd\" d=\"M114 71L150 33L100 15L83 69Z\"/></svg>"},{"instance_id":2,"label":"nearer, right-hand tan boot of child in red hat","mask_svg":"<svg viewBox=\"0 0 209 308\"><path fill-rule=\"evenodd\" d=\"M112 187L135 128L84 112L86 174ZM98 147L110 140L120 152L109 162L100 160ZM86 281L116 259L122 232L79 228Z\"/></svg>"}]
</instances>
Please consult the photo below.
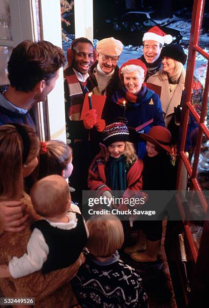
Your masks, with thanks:
<instances>
[{"instance_id":1,"label":"nearer, right-hand tan boot of child in red hat","mask_svg":"<svg viewBox=\"0 0 209 308\"><path fill-rule=\"evenodd\" d=\"M156 261L158 252L161 248L161 240L146 241L146 250L144 252L132 252L131 258L138 262L152 262Z\"/></svg>"}]
</instances>

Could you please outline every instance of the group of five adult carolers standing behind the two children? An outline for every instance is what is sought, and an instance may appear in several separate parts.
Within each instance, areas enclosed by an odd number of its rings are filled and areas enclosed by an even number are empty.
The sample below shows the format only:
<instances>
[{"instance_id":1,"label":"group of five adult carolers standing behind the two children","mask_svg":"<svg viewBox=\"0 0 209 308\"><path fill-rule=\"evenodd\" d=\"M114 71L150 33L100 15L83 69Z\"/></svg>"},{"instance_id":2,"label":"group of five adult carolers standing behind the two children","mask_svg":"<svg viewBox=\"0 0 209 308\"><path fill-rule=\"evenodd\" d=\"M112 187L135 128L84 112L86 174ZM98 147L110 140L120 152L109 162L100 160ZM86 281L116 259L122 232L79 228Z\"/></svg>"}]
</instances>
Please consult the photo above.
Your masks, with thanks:
<instances>
[{"instance_id":1,"label":"group of five adult carolers standing behind the two children","mask_svg":"<svg viewBox=\"0 0 209 308\"><path fill-rule=\"evenodd\" d=\"M119 68L117 62L123 51L121 41L113 37L102 39L97 43L96 51L87 38L72 42L67 51L68 67L64 70L65 99L67 138L74 151L70 182L76 189L74 198L79 203L82 203L82 190L88 189L88 168L99 152L101 132L106 125L125 123L130 132L129 141L134 144L140 159L144 158L146 145L135 134L134 128L140 127L138 132L145 134L153 126L168 128L175 164L180 127L176 110L179 110L177 106L184 89L183 65L187 56L182 46L171 43L171 35L166 35L157 26L152 27L143 36L143 55L126 61ZM164 44L167 45L163 47ZM150 84L159 86L160 96L149 89ZM194 78L192 103L197 110L200 109L202 91L201 84ZM92 109L80 120L84 96L88 92L106 96L101 119L97 119L96 110ZM188 147L191 145L190 132L196 127L194 119L190 118Z\"/></svg>"}]
</instances>

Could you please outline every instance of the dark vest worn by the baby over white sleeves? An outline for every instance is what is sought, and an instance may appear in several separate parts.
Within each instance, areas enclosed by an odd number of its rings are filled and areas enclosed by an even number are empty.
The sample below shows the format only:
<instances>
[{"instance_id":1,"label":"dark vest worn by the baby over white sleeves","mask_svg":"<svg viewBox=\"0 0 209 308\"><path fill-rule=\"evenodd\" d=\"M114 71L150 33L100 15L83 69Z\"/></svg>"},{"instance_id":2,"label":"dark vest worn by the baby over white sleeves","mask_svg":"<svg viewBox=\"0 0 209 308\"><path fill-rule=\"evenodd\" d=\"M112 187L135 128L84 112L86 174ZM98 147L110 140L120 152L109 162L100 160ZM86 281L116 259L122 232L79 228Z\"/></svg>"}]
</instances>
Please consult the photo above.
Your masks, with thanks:
<instances>
[{"instance_id":1,"label":"dark vest worn by the baby over white sleeves","mask_svg":"<svg viewBox=\"0 0 209 308\"><path fill-rule=\"evenodd\" d=\"M45 219L31 225L31 230L37 228L41 231L49 248L47 260L42 266L43 274L68 267L78 259L86 245L87 235L82 215L76 213L76 217L77 226L70 230L53 227Z\"/></svg>"}]
</instances>

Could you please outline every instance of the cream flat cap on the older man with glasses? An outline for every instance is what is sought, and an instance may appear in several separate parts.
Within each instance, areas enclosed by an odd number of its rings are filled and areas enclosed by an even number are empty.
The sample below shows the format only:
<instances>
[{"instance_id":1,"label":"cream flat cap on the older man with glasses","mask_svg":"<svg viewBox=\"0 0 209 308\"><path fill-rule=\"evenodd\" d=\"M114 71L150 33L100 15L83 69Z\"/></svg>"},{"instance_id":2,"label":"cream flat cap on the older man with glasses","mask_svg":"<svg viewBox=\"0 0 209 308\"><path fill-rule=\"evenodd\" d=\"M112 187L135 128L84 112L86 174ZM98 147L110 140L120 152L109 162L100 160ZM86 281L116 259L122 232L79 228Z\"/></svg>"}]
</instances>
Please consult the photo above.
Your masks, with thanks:
<instances>
[{"instance_id":1,"label":"cream flat cap on the older man with glasses","mask_svg":"<svg viewBox=\"0 0 209 308\"><path fill-rule=\"evenodd\" d=\"M123 44L114 37L108 37L97 43L96 51L110 57L116 57L123 51Z\"/></svg>"}]
</instances>

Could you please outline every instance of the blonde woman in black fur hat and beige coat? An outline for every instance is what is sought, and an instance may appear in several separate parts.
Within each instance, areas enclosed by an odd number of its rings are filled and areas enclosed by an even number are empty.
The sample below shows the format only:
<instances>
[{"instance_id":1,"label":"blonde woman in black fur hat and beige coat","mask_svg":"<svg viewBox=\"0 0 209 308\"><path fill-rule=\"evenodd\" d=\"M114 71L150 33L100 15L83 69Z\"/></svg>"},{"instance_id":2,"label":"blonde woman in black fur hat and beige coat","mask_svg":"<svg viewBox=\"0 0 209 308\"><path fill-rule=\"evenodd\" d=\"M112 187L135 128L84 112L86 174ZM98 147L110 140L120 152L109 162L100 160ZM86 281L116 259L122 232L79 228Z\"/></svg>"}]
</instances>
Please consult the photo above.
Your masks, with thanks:
<instances>
[{"instance_id":1,"label":"blonde woman in black fur hat and beige coat","mask_svg":"<svg viewBox=\"0 0 209 308\"><path fill-rule=\"evenodd\" d=\"M178 155L177 144L180 139L180 103L182 91L185 83L185 69L183 65L186 63L187 55L182 46L172 44L163 47L161 51L162 56L162 70L151 76L147 82L161 86L161 103L163 108L163 116L166 127L171 132L171 145L172 145L172 160L175 165ZM200 82L194 77L192 85L192 100L191 103L195 106L197 111L201 111L201 101L203 87ZM195 119L190 114L186 147L189 150L194 145L191 138L191 132L197 127Z\"/></svg>"}]
</instances>

